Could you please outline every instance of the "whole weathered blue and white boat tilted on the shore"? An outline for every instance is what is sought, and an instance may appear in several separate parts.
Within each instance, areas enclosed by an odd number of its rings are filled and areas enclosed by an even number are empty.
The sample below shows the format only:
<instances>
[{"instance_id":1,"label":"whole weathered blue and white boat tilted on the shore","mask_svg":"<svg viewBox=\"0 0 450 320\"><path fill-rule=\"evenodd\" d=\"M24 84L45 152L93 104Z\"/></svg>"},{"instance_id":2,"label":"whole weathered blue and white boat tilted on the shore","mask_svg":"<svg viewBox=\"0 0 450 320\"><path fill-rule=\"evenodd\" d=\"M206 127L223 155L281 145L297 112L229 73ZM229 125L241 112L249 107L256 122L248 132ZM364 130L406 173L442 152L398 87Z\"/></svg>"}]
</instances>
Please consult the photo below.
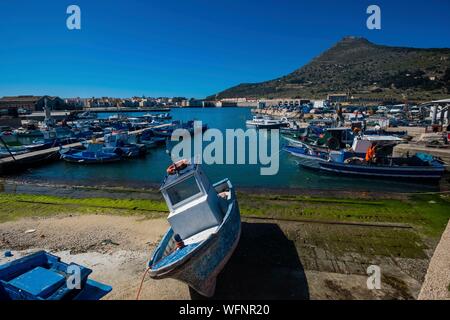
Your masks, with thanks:
<instances>
[{"instance_id":1,"label":"whole weathered blue and white boat tilted on the shore","mask_svg":"<svg viewBox=\"0 0 450 320\"><path fill-rule=\"evenodd\" d=\"M152 254L149 274L180 280L211 297L240 238L235 190L228 179L211 184L200 165L186 160L167 171L161 192L170 210L170 228Z\"/></svg>"}]
</instances>

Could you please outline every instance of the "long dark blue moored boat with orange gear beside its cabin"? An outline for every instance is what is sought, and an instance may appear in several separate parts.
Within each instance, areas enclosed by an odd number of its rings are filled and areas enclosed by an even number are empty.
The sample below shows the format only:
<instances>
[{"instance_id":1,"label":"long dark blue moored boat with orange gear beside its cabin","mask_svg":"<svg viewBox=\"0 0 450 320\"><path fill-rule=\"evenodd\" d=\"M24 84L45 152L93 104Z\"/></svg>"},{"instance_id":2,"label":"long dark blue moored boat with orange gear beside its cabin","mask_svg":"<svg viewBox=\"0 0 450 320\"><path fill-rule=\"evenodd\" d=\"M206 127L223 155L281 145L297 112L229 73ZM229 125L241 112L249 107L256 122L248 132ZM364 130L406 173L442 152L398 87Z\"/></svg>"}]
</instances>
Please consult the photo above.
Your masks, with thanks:
<instances>
[{"instance_id":1,"label":"long dark blue moored boat with orange gear beside its cabin","mask_svg":"<svg viewBox=\"0 0 450 320\"><path fill-rule=\"evenodd\" d=\"M355 138L351 149L323 152L308 146L287 146L285 151L302 167L345 176L438 181L444 175L443 162L431 155L416 153L393 157L398 137L366 136Z\"/></svg>"}]
</instances>

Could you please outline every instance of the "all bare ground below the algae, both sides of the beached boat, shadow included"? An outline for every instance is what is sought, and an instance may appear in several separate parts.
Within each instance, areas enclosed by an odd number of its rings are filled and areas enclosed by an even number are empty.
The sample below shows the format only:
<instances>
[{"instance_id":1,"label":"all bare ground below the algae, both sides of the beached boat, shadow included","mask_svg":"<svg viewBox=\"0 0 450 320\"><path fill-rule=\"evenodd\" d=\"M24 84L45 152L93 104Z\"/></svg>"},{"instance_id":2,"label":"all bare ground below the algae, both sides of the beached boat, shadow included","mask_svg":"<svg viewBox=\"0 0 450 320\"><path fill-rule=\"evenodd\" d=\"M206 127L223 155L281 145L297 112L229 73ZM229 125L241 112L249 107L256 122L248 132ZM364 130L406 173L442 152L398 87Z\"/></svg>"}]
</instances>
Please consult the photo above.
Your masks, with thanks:
<instances>
[{"instance_id":1,"label":"all bare ground below the algae, both sides of the beached boat, shadow included","mask_svg":"<svg viewBox=\"0 0 450 320\"><path fill-rule=\"evenodd\" d=\"M165 219L103 215L7 222L0 224L0 264L32 251L49 250L65 262L93 269L93 279L113 287L105 299L135 299L148 259L167 227ZM34 231L27 233L27 230ZM354 244L348 243L348 239L344 251L333 250L336 239L327 236L331 233L343 237L349 232L361 234L361 227L247 219L238 248L219 276L215 298L417 297L429 258L394 257L395 252L388 257L361 250L355 253L351 249ZM364 246L367 252L374 250ZM6 249L12 250L14 257L5 258ZM379 264L384 272L381 290L367 289L366 268L373 263ZM171 279L147 278L141 294L141 299L198 298L185 284Z\"/></svg>"}]
</instances>

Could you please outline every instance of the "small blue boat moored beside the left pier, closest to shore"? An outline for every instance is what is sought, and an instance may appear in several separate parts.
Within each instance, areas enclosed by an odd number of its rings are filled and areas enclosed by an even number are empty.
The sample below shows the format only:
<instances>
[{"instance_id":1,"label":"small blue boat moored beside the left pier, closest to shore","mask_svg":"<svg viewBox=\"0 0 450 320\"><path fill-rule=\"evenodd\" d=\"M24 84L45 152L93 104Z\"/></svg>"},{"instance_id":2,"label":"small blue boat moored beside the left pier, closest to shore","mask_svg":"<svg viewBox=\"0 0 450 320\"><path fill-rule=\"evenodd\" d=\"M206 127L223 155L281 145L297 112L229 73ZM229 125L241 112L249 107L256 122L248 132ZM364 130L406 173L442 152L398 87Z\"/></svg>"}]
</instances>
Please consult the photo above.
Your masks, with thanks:
<instances>
[{"instance_id":1,"label":"small blue boat moored beside the left pier, closest to shore","mask_svg":"<svg viewBox=\"0 0 450 320\"><path fill-rule=\"evenodd\" d=\"M102 144L90 143L85 150L70 148L60 150L61 159L80 164L99 164L117 162L122 157L115 152L105 152Z\"/></svg>"}]
</instances>

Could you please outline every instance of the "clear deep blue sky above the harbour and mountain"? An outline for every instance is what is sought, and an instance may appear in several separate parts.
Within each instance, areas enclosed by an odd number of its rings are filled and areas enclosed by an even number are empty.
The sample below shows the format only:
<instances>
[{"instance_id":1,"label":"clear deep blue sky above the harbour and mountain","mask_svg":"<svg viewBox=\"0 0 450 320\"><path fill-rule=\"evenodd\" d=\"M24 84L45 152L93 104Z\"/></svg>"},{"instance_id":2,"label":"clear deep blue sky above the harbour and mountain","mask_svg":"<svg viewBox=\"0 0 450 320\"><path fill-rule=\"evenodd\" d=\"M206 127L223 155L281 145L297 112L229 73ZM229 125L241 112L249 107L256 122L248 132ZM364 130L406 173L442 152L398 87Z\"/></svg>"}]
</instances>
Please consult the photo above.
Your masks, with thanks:
<instances>
[{"instance_id":1,"label":"clear deep blue sky above the harbour and mountain","mask_svg":"<svg viewBox=\"0 0 450 320\"><path fill-rule=\"evenodd\" d=\"M66 8L81 8L81 30ZM381 7L382 29L366 28ZM0 96L202 98L304 65L346 35L450 47L450 1L0 1Z\"/></svg>"}]
</instances>

